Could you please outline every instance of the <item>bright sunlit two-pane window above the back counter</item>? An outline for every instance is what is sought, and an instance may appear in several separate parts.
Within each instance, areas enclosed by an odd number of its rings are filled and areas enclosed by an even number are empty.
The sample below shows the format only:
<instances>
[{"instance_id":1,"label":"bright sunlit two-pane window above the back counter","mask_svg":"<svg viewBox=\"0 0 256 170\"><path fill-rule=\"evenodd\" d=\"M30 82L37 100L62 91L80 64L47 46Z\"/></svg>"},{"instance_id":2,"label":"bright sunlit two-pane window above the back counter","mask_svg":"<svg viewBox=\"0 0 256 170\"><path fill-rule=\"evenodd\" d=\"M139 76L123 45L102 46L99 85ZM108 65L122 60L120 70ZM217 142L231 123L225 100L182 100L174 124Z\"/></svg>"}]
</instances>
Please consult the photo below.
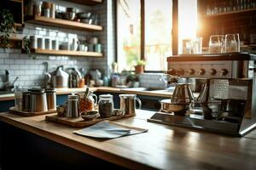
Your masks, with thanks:
<instances>
[{"instance_id":1,"label":"bright sunlit two-pane window above the back counter","mask_svg":"<svg viewBox=\"0 0 256 170\"><path fill-rule=\"evenodd\" d=\"M172 55L172 1L118 0L119 71L133 70L145 59L146 71L166 71Z\"/></svg>"}]
</instances>

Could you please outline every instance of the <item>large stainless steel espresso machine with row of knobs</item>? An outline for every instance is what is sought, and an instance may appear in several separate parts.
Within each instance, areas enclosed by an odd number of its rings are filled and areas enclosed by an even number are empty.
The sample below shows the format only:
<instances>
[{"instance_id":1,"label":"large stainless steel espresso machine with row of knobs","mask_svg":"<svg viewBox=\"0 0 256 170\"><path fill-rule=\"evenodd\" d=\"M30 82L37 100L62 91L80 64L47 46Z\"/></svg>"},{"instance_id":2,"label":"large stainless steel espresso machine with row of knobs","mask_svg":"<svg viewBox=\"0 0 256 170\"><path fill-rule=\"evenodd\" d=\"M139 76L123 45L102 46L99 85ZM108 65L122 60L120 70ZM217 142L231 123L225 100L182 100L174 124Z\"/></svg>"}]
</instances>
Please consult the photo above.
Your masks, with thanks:
<instances>
[{"instance_id":1,"label":"large stainless steel espresso machine with row of knobs","mask_svg":"<svg viewBox=\"0 0 256 170\"><path fill-rule=\"evenodd\" d=\"M234 136L250 132L256 127L255 60L256 55L241 53L168 57L169 76L205 79L205 84L184 114L161 108L148 122Z\"/></svg>"}]
</instances>

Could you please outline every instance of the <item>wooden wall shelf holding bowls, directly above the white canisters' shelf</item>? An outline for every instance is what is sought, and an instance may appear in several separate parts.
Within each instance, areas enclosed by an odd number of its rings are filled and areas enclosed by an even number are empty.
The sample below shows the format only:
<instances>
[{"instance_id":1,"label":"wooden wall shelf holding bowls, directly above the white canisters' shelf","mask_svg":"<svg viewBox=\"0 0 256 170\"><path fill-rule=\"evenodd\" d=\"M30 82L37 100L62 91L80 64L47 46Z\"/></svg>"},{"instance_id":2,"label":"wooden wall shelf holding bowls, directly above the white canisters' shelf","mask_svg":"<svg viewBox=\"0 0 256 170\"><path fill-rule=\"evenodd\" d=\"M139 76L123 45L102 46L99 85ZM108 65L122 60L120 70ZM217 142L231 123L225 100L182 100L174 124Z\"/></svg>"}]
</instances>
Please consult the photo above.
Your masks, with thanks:
<instances>
[{"instance_id":1,"label":"wooden wall shelf holding bowls, directly above the white canisters' shelf","mask_svg":"<svg viewBox=\"0 0 256 170\"><path fill-rule=\"evenodd\" d=\"M42 26L57 26L82 31L102 31L102 26L90 25L72 20L52 19L44 16L25 16L26 23L41 24Z\"/></svg>"}]
</instances>

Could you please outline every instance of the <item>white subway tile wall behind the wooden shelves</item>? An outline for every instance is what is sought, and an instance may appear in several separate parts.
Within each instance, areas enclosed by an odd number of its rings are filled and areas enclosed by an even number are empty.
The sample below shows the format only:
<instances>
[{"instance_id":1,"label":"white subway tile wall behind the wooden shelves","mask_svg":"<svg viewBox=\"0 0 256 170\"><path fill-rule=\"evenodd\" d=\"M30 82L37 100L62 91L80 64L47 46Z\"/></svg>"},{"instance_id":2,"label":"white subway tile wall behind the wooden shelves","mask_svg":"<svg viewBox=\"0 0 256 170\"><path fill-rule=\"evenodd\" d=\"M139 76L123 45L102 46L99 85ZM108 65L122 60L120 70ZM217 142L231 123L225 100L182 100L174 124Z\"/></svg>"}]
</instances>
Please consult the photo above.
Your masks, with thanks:
<instances>
[{"instance_id":1,"label":"white subway tile wall behind the wooden shelves","mask_svg":"<svg viewBox=\"0 0 256 170\"><path fill-rule=\"evenodd\" d=\"M90 10L93 13L99 14L99 24L103 26L103 31L74 31L65 28L39 26L26 23L25 28L20 33L28 37L34 35L58 37L60 42L64 41L67 37L78 37L81 40L86 40L90 37L98 37L100 43L102 44L102 52L104 57L69 57L34 54L29 56L28 54L21 54L20 49L0 48L0 88L3 85L3 82L5 82L5 70L9 71L10 81L14 81L15 77L19 77L17 83L25 88L30 88L32 86L44 87L44 72L46 71L44 66L45 62L49 63L49 71L54 71L58 65L64 65L64 68L75 67L79 69L83 67L85 71L92 68L97 68L100 71L108 74L109 64L113 62L112 58L115 50L113 38L115 32L113 25L115 20L113 0L104 0L104 3L93 7L58 0L52 0L51 2L55 2L66 7L79 8L79 11ZM110 8L111 11L108 11L108 8ZM110 15L112 15L112 17L110 17ZM32 59L33 56L35 56L36 59Z\"/></svg>"}]
</instances>

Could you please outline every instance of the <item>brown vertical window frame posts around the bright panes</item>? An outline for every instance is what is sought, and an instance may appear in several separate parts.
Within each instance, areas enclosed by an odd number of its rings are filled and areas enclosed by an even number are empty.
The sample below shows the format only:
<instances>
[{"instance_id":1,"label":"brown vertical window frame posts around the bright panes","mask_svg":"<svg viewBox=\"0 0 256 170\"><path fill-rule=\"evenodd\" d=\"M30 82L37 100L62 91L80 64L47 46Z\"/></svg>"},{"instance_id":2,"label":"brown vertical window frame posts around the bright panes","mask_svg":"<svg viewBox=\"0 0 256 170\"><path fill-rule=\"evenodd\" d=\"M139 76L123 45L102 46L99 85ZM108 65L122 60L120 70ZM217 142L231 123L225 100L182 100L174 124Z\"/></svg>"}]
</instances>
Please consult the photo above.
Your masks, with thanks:
<instances>
[{"instance_id":1,"label":"brown vertical window frame posts around the bright panes","mask_svg":"<svg viewBox=\"0 0 256 170\"><path fill-rule=\"evenodd\" d=\"M141 54L140 59L145 59L145 1L140 0L141 3ZM118 62L118 0L115 0L115 29L116 29L116 48L115 48L115 61ZM178 50L178 0L172 0L172 55L177 55ZM166 61L167 62L167 61ZM164 71L147 71L162 73Z\"/></svg>"}]
</instances>

